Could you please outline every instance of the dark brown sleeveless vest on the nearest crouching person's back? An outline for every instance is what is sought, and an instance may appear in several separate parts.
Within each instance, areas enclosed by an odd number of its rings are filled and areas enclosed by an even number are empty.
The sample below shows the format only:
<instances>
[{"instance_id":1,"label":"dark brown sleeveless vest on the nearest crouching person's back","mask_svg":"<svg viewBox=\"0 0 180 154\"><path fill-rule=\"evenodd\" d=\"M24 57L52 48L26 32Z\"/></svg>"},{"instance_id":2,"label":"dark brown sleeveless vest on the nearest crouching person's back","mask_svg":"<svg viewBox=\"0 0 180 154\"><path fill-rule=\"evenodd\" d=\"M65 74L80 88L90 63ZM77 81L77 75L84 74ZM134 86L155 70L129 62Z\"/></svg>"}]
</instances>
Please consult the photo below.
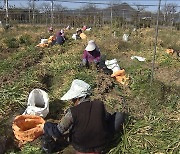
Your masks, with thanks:
<instances>
[{"instance_id":1,"label":"dark brown sleeveless vest on the nearest crouching person's back","mask_svg":"<svg viewBox=\"0 0 180 154\"><path fill-rule=\"evenodd\" d=\"M108 128L106 110L101 101L86 101L72 107L73 127L71 129L72 145L78 151L96 149L106 145ZM88 151L87 151L88 152Z\"/></svg>"}]
</instances>

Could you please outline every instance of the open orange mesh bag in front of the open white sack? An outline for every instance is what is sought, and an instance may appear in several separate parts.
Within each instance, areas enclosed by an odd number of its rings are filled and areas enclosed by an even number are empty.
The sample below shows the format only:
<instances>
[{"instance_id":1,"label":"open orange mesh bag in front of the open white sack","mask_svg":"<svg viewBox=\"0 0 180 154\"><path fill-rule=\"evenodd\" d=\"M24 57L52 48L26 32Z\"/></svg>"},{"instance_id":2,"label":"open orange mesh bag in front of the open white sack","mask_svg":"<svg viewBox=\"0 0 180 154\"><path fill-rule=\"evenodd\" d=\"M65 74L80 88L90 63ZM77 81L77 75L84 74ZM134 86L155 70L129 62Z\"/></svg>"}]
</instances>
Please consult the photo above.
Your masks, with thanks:
<instances>
[{"instance_id":1,"label":"open orange mesh bag in front of the open white sack","mask_svg":"<svg viewBox=\"0 0 180 154\"><path fill-rule=\"evenodd\" d=\"M19 115L13 121L13 132L15 137L25 144L33 141L43 134L44 119L35 115Z\"/></svg>"}]
</instances>

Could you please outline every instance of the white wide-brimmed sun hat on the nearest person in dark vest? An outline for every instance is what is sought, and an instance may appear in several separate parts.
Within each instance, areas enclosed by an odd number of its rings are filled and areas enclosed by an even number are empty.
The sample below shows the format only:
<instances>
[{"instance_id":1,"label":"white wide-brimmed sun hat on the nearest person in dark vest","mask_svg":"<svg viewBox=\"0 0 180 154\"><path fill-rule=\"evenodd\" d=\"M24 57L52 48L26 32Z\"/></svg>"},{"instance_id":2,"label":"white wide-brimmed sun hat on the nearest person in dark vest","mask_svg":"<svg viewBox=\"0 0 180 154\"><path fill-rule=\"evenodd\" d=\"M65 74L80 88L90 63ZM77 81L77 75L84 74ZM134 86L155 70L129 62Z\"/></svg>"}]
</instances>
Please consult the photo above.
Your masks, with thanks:
<instances>
[{"instance_id":1,"label":"white wide-brimmed sun hat on the nearest person in dark vest","mask_svg":"<svg viewBox=\"0 0 180 154\"><path fill-rule=\"evenodd\" d=\"M73 98L85 97L90 95L91 86L82 80L75 79L72 84L71 88L68 90L61 100L71 100Z\"/></svg>"}]
</instances>

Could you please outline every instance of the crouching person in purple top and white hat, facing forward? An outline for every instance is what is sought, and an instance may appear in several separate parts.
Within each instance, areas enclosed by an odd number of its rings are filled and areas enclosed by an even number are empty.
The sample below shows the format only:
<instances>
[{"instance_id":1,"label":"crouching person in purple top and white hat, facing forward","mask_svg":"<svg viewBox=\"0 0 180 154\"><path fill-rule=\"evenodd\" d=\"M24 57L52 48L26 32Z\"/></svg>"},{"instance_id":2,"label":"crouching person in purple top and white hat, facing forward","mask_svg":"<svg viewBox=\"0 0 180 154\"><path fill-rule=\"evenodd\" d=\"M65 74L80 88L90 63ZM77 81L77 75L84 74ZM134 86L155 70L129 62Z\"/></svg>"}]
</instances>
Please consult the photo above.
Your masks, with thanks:
<instances>
[{"instance_id":1,"label":"crouching person in purple top and white hat, facing forward","mask_svg":"<svg viewBox=\"0 0 180 154\"><path fill-rule=\"evenodd\" d=\"M101 53L98 47L96 46L95 42L93 40L88 42L88 45L86 46L83 57L82 57L82 64L83 66L89 67L90 63L95 63L95 65L98 65L101 59Z\"/></svg>"}]
</instances>

